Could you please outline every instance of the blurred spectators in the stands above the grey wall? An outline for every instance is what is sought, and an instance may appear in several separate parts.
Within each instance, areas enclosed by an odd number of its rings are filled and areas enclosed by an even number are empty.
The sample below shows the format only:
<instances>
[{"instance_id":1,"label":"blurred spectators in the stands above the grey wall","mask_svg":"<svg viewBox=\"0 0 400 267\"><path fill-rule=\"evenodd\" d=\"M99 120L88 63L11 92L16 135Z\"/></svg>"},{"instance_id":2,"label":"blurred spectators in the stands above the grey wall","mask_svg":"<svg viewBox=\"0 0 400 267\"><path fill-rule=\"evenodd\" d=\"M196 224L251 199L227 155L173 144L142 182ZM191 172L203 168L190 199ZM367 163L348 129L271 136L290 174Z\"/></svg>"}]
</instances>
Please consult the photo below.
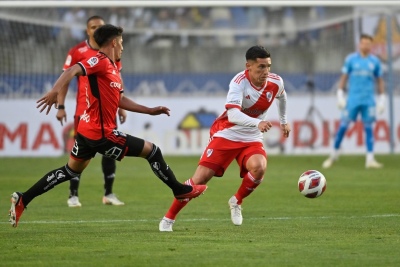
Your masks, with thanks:
<instances>
[{"instance_id":1,"label":"blurred spectators in the stands above the grey wall","mask_svg":"<svg viewBox=\"0 0 400 267\"><path fill-rule=\"evenodd\" d=\"M11 13L13 11L10 11ZM73 44L86 38L86 19L100 15L125 30L125 41L154 47L313 44L346 23L324 26L349 7L42 8L16 10L22 21L0 19L1 39ZM27 23L26 18L31 18ZM29 21L29 20L28 20ZM318 24L320 23L320 25ZM0 40L1 40L0 39Z\"/></svg>"}]
</instances>

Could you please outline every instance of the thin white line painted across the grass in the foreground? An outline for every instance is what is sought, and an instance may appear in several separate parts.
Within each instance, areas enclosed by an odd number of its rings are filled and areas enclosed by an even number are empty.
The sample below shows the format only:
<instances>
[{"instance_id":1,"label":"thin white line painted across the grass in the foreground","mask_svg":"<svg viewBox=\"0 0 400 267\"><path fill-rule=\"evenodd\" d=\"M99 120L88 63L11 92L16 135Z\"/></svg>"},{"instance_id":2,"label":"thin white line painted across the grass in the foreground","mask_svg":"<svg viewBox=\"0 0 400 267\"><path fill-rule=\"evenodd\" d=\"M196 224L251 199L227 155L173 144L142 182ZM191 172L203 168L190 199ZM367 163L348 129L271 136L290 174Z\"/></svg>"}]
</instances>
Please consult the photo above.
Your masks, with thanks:
<instances>
[{"instance_id":1,"label":"thin white line painted across the grass in the foreground","mask_svg":"<svg viewBox=\"0 0 400 267\"><path fill-rule=\"evenodd\" d=\"M307 217L253 217L246 218L246 221L279 221L279 220L326 220L326 219L362 219L362 218L390 218L400 217L400 214L373 214L364 216L307 216ZM137 219L137 220L74 220L74 221L21 221L18 224L92 224L92 223L142 223L142 222L159 222L161 220L155 219ZM180 222L196 222L196 221L229 221L230 218L226 219L179 219ZM0 222L0 224L6 224L8 222Z\"/></svg>"}]
</instances>

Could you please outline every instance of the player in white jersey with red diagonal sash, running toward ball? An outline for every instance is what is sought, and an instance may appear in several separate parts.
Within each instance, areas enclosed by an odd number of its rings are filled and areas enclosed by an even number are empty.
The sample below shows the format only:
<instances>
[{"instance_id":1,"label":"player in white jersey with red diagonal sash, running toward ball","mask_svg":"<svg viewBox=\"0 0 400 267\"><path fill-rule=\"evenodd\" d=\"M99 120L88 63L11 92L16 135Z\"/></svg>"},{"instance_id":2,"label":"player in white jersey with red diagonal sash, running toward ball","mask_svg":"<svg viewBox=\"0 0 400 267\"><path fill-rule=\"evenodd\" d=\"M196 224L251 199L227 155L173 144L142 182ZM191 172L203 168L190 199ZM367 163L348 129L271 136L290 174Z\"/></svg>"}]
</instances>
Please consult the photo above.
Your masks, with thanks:
<instances>
[{"instance_id":1,"label":"player in white jersey with red diagonal sash, running toward ball","mask_svg":"<svg viewBox=\"0 0 400 267\"><path fill-rule=\"evenodd\" d=\"M198 167L186 184L207 184L213 176L221 177L236 159L242 183L229 199L231 219L241 225L242 201L261 184L267 169L267 154L263 134L271 129L266 113L273 100L278 100L278 112L283 136L288 137L290 125L286 119L286 92L282 78L270 73L271 55L262 46L250 47L246 52L246 69L231 80L225 111L210 129L210 141ZM179 211L191 199L174 199L159 224L162 232L171 232Z\"/></svg>"}]
</instances>

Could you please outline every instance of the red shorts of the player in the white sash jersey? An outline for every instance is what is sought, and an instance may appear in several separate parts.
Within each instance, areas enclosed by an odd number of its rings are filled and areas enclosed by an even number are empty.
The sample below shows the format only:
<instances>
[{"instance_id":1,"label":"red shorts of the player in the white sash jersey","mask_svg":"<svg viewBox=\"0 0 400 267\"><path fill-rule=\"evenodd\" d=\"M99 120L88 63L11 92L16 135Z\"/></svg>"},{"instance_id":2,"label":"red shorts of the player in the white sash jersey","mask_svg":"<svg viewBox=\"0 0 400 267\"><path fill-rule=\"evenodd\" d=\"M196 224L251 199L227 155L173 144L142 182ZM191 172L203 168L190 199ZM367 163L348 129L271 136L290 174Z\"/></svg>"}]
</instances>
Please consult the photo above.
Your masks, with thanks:
<instances>
[{"instance_id":1,"label":"red shorts of the player in the white sash jersey","mask_svg":"<svg viewBox=\"0 0 400 267\"><path fill-rule=\"evenodd\" d=\"M225 138L213 138L204 149L199 165L212 169L214 176L221 177L229 164L236 159L240 167L240 177L248 172L247 160L255 154L261 154L267 158L264 146L260 142L235 142Z\"/></svg>"}]
</instances>

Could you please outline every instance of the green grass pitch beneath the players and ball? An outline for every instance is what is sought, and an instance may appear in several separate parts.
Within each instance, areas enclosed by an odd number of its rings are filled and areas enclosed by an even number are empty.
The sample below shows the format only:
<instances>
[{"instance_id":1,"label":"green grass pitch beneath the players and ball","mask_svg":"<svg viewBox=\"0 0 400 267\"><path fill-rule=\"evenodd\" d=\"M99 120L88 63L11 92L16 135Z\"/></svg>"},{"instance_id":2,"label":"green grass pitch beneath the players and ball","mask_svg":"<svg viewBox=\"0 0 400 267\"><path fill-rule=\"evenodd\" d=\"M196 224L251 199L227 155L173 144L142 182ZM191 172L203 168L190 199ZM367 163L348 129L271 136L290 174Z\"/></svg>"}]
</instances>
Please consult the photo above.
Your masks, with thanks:
<instances>
[{"instance_id":1,"label":"green grass pitch beneath the players and ball","mask_svg":"<svg viewBox=\"0 0 400 267\"><path fill-rule=\"evenodd\" d=\"M104 206L100 157L81 178L81 208L68 208L63 183L34 199L18 228L8 223L10 194L25 191L60 158L0 158L0 266L400 266L399 155L342 156L322 170L321 156L270 155L264 182L243 202L243 225L230 221L227 201L241 180L233 162L222 178L180 213L174 232L158 223L171 191L144 159L117 164L114 192L125 206ZM166 157L178 180L198 157ZM300 174L322 171L325 193L297 189Z\"/></svg>"}]
</instances>

